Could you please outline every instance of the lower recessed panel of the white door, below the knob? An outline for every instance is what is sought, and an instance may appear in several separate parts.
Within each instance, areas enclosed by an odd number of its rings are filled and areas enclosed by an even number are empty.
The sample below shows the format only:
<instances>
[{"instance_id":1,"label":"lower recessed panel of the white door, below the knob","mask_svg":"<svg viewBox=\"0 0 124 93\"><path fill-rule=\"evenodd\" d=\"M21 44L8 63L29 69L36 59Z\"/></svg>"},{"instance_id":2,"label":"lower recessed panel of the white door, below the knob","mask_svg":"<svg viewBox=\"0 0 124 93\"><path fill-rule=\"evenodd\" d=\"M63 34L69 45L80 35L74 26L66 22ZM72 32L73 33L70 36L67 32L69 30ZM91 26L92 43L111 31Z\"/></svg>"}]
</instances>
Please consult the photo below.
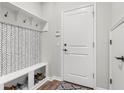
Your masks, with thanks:
<instances>
[{"instance_id":1,"label":"lower recessed panel of the white door, below the knob","mask_svg":"<svg viewBox=\"0 0 124 93\"><path fill-rule=\"evenodd\" d=\"M68 54L68 55L65 55L65 59L66 59L66 61L68 61L64 66L65 70L66 70L65 74L69 73L69 74L73 74L73 75L82 76L85 78L89 77L88 74L89 74L90 68L87 68L87 67L89 66L88 61L90 61L90 60L87 60L88 56L77 55L77 54ZM83 65L82 65L82 63L83 63ZM82 68L85 70L80 71Z\"/></svg>"}]
</instances>

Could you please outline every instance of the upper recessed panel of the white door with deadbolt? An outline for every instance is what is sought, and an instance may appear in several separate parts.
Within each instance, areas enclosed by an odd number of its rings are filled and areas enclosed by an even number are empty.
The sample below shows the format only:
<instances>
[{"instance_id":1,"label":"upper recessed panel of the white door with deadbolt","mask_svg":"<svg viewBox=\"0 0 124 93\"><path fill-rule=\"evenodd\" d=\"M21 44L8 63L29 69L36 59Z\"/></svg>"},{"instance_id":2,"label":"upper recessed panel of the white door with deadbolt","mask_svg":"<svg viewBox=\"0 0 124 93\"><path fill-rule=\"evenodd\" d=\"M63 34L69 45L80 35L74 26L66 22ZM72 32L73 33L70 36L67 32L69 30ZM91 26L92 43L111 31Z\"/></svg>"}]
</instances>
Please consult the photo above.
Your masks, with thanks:
<instances>
[{"instance_id":1,"label":"upper recessed panel of the white door with deadbolt","mask_svg":"<svg viewBox=\"0 0 124 93\"><path fill-rule=\"evenodd\" d=\"M92 29L92 27L89 27L92 25L92 20L89 18L89 16L92 16L92 13L82 13L75 15L68 15L65 13L64 30L68 32L64 32L64 40L65 42L68 42L69 46L88 46L90 42L89 30Z\"/></svg>"}]
</instances>

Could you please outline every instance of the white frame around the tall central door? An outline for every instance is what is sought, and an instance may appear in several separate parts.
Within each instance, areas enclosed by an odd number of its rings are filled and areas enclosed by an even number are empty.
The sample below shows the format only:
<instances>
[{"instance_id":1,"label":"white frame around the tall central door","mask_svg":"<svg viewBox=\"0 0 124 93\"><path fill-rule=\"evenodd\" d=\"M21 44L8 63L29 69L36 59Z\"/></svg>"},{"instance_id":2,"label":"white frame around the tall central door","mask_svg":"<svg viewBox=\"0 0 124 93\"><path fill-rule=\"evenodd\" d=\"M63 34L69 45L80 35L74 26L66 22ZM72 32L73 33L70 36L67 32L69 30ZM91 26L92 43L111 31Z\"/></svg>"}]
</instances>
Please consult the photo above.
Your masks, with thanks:
<instances>
[{"instance_id":1,"label":"white frame around the tall central door","mask_svg":"<svg viewBox=\"0 0 124 93\"><path fill-rule=\"evenodd\" d=\"M68 9L68 10L63 10L62 11L62 14L61 14L61 79L64 80L64 51L63 51L63 43L64 43L64 33L63 33L63 25L64 25L64 22L63 22L63 14L65 11L70 11L70 10L74 10L74 9L78 9L78 8L85 8L85 7L90 7L92 6L93 7L93 45L94 45L94 48L93 48L93 63L94 63L94 87L93 88L96 88L96 3L92 3L92 4L84 4L84 5L81 5L80 7L76 7L76 8L71 8L71 9Z\"/></svg>"}]
</instances>

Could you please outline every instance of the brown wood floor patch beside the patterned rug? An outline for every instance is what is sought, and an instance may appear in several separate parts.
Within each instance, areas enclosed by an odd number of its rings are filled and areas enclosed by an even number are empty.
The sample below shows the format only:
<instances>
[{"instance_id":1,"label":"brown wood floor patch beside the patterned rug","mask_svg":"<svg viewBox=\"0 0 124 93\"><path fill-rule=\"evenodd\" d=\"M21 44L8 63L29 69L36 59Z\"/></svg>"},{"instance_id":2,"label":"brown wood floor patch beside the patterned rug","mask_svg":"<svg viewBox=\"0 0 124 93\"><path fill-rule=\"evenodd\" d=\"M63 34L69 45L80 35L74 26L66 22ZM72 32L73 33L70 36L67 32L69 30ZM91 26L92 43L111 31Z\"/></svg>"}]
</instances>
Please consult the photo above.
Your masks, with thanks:
<instances>
[{"instance_id":1,"label":"brown wood floor patch beside the patterned rug","mask_svg":"<svg viewBox=\"0 0 124 93\"><path fill-rule=\"evenodd\" d=\"M41 87L39 87L37 90L56 90L59 86L60 81L53 80L53 81L47 81L45 84L43 84Z\"/></svg>"}]
</instances>

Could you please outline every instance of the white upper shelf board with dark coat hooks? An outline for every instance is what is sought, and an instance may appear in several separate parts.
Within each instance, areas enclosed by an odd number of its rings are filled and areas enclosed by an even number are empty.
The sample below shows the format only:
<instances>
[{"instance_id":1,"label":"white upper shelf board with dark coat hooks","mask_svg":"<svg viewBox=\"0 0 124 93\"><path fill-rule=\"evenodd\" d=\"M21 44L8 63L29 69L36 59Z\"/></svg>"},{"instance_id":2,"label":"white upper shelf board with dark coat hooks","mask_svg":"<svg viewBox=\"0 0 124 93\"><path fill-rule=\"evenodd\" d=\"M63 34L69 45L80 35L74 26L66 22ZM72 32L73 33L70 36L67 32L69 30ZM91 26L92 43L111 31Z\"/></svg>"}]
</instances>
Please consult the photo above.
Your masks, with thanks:
<instances>
[{"instance_id":1,"label":"white upper shelf board with dark coat hooks","mask_svg":"<svg viewBox=\"0 0 124 93\"><path fill-rule=\"evenodd\" d=\"M0 22L17 25L41 32L46 32L46 29L44 30L44 28L48 28L47 20L45 20L44 18L32 14L30 11L27 11L13 3L8 2L0 3Z\"/></svg>"}]
</instances>

